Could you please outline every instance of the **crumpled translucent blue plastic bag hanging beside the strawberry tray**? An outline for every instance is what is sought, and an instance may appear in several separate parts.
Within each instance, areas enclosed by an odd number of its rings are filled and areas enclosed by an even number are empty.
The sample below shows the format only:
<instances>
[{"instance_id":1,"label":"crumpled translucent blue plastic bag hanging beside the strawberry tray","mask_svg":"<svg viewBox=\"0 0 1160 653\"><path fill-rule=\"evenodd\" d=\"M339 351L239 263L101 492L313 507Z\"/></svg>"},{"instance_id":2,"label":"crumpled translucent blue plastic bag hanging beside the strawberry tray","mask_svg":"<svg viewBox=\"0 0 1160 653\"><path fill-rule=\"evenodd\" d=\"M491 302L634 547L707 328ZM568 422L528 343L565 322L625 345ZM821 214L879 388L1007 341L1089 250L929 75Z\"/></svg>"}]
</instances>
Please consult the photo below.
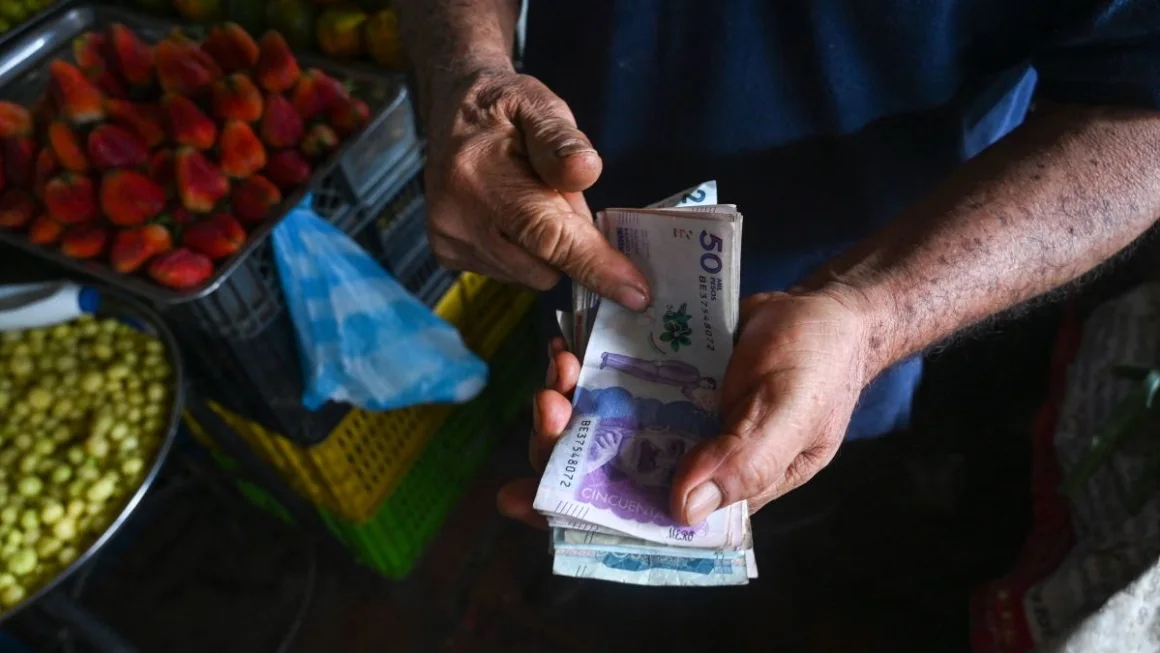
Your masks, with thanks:
<instances>
[{"instance_id":1,"label":"crumpled translucent blue plastic bag hanging beside the strawberry tray","mask_svg":"<svg viewBox=\"0 0 1160 653\"><path fill-rule=\"evenodd\" d=\"M462 402L487 383L487 365L347 234L311 197L274 230L274 257L298 332L302 402L369 411Z\"/></svg>"}]
</instances>

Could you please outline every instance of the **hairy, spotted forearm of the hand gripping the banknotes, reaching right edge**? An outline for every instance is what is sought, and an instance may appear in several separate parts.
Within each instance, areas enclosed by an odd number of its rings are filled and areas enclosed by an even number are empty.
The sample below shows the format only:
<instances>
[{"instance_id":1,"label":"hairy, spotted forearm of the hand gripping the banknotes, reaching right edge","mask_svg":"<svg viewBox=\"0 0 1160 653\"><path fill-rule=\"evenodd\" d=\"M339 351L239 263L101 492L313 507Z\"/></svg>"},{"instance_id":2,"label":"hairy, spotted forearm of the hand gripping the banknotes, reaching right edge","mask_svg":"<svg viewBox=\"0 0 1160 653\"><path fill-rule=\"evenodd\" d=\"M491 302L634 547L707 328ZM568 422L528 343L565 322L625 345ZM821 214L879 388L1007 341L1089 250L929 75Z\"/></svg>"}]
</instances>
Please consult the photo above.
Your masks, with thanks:
<instances>
[{"instance_id":1,"label":"hairy, spotted forearm of the hand gripping the banknotes, reaching right edge","mask_svg":"<svg viewBox=\"0 0 1160 653\"><path fill-rule=\"evenodd\" d=\"M863 315L867 373L1063 285L1160 217L1160 114L1051 108L806 283Z\"/></svg>"}]
</instances>

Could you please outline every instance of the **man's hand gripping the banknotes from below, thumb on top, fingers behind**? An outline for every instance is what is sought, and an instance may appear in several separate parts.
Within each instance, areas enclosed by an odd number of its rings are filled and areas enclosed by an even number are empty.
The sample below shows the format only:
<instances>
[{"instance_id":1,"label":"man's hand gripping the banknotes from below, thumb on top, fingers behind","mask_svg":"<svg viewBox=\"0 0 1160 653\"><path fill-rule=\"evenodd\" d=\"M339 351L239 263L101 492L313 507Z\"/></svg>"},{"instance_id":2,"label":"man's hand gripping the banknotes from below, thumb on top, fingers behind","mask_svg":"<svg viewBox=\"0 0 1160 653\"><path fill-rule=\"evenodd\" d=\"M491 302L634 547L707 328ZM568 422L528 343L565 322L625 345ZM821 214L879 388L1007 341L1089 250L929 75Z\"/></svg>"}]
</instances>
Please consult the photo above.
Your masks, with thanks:
<instances>
[{"instance_id":1,"label":"man's hand gripping the banknotes from below, thumb on top, fingers behind","mask_svg":"<svg viewBox=\"0 0 1160 653\"><path fill-rule=\"evenodd\" d=\"M751 510L803 483L833 459L871 370L853 300L832 293L769 293L741 304L741 333L722 389L722 435L686 456L672 514L686 524L742 499ZM532 406L530 458L538 473L572 414L580 362L551 346L546 387ZM543 525L531 502L537 481L500 492L500 510Z\"/></svg>"}]
</instances>

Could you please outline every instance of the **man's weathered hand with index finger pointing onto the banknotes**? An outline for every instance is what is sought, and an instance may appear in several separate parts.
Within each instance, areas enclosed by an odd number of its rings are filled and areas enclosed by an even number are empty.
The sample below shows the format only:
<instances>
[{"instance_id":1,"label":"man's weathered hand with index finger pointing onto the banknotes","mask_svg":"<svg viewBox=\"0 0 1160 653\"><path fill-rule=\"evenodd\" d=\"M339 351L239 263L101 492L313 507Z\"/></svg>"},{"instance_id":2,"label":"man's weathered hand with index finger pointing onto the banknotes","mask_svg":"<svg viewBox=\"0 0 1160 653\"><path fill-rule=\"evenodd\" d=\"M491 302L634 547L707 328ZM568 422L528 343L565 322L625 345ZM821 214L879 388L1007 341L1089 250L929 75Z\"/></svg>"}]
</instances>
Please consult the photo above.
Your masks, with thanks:
<instances>
[{"instance_id":1,"label":"man's weathered hand with index finger pointing onto the banknotes","mask_svg":"<svg viewBox=\"0 0 1160 653\"><path fill-rule=\"evenodd\" d=\"M428 222L443 266L538 290L563 273L647 307L644 275L593 224L581 193L602 162L563 100L505 70L435 90L430 107Z\"/></svg>"}]
</instances>

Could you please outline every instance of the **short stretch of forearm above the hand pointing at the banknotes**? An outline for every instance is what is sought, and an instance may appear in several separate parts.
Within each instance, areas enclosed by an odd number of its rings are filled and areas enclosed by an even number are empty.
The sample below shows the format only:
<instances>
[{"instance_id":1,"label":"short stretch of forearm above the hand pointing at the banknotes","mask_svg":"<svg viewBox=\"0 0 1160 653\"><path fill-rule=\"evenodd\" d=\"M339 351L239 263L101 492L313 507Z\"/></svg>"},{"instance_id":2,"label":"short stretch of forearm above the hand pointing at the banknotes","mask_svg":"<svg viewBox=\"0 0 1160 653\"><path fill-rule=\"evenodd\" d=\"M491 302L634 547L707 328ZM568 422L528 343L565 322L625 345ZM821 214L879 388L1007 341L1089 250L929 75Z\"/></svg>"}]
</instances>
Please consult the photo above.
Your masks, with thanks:
<instances>
[{"instance_id":1,"label":"short stretch of forearm above the hand pointing at the banknotes","mask_svg":"<svg viewBox=\"0 0 1160 653\"><path fill-rule=\"evenodd\" d=\"M510 71L520 0L394 0L420 99L480 71ZM423 109L423 115L427 111Z\"/></svg>"}]
</instances>

